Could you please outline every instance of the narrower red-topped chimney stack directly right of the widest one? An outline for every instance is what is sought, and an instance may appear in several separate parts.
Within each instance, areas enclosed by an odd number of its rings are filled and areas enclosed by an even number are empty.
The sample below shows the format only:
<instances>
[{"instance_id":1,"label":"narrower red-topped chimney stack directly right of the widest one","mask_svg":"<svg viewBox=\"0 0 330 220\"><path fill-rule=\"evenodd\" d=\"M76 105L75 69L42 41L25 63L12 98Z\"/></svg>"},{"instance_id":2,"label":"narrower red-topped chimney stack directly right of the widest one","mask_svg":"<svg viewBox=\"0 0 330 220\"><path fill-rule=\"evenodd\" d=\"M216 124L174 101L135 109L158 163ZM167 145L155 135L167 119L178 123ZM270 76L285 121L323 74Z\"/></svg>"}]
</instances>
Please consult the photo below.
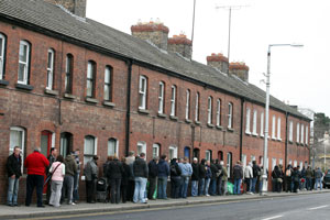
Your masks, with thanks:
<instances>
[{"instance_id":1,"label":"narrower red-topped chimney stack directly right of the widest one","mask_svg":"<svg viewBox=\"0 0 330 220\"><path fill-rule=\"evenodd\" d=\"M179 53L191 59L193 42L185 34L173 35L168 38L168 51Z\"/></svg>"}]
</instances>

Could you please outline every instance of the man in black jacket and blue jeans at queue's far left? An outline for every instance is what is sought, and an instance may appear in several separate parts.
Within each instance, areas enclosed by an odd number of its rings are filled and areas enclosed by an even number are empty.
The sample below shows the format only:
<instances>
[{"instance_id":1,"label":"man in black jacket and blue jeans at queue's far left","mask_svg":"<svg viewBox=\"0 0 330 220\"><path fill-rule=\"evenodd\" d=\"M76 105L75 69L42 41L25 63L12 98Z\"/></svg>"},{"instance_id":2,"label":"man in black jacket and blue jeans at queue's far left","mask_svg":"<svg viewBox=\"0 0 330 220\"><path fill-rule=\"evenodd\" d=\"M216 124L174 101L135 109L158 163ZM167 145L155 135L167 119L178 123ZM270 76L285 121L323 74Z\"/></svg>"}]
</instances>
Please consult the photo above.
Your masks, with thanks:
<instances>
[{"instance_id":1,"label":"man in black jacket and blue jeans at queue's far left","mask_svg":"<svg viewBox=\"0 0 330 220\"><path fill-rule=\"evenodd\" d=\"M8 195L7 195L7 205L8 206L18 206L18 194L20 178L22 176L22 157L20 155L21 150L19 146L13 148L13 154L10 155L7 160L7 173L8 173Z\"/></svg>"}]
</instances>

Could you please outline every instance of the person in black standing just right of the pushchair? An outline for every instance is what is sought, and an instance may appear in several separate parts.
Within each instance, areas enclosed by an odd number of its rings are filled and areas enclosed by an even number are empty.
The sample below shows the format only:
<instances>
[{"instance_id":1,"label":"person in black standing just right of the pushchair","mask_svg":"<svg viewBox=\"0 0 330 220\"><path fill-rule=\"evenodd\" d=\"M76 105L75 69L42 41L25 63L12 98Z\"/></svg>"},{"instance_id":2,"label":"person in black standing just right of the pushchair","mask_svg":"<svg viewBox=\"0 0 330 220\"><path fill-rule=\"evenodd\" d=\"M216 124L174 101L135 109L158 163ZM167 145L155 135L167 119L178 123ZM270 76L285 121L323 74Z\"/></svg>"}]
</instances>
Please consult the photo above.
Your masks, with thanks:
<instances>
[{"instance_id":1,"label":"person in black standing just right of the pushchair","mask_svg":"<svg viewBox=\"0 0 330 220\"><path fill-rule=\"evenodd\" d=\"M122 175L124 173L123 166L117 156L110 162L107 168L107 177L110 179L110 200L111 204L119 204L120 201L120 185Z\"/></svg>"}]
</instances>

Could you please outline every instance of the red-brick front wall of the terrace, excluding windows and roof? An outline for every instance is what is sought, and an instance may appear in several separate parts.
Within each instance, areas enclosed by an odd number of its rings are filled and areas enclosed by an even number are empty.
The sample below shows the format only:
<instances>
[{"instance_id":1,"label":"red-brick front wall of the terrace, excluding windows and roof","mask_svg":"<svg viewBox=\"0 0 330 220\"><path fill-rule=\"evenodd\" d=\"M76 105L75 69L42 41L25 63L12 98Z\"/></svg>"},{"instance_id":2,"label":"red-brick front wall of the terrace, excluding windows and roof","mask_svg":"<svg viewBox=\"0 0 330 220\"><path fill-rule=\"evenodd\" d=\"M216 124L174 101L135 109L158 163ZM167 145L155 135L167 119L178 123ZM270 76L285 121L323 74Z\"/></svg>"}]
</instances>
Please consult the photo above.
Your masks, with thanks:
<instances>
[{"instance_id":1,"label":"red-brick front wall of the terrace, excluding windows and roof","mask_svg":"<svg viewBox=\"0 0 330 220\"><path fill-rule=\"evenodd\" d=\"M211 152L212 158L220 158L224 163L228 154L232 155L232 165L235 161L246 155L248 162L252 155L260 163L263 155L263 138L245 133L245 111L251 109L251 130L253 124L253 110L257 110L257 133L260 134L260 112L264 111L263 106L253 101L244 100L239 96L229 92L211 89L205 85L191 82L176 76L154 70L138 64L132 64L131 75L131 102L128 109L128 80L130 64L119 57L106 55L88 47L82 47L67 41L44 35L19 25L0 21L0 32L7 36L6 50L6 77L0 86L0 187L7 188L6 160L9 155L10 129L22 128L25 131L24 157L32 153L33 148L41 145L42 131L48 131L54 136L54 146L59 148L61 134L68 132L73 135L73 148L80 148L80 160L84 160L84 139L86 135L97 138L97 155L100 156L99 165L106 162L108 152L108 140L114 138L119 143L119 156L125 156L128 150L138 151L136 144L140 141L146 143L146 157L152 157L152 146L161 145L161 154L168 154L169 146L176 146L177 156L185 155L185 147L189 148L189 156L193 152L199 158L206 157L206 151ZM18 63L20 41L26 41L31 45L30 85L32 90L16 88ZM46 66L47 51L55 52L54 63L54 91L47 92ZM65 63L66 55L74 57L73 92L65 97ZM96 63L96 97L94 102L86 101L87 63ZM112 67L112 91L111 105L105 105L103 86L105 68ZM139 78L143 75L147 78L146 110L139 111ZM3 84L8 81L9 85ZM158 85L165 84L165 111L160 116L158 111ZM170 118L170 87L177 87L177 113ZM186 90L190 90L190 114L185 120ZM199 122L195 121L196 94L200 95ZM208 121L208 97L212 97L212 121ZM221 100L221 124L217 127L217 100ZM232 129L228 129L228 103L232 103ZM130 128L127 128L127 117L130 114ZM243 116L242 116L243 113ZM270 139L268 157L270 166L272 160L282 158L285 161L308 162L309 150L307 145L288 143L286 113L280 110L271 109L270 112L270 135L272 135L272 117L280 118L279 140ZM243 119L243 121L241 120ZM305 124L309 128L306 119L288 116L288 121ZM127 131L129 129L129 143ZM277 130L277 125L276 125ZM243 133L242 133L243 131ZM295 128L294 128L295 131ZM310 129L309 129L310 131ZM294 133L295 138L295 133ZM129 146L129 148L125 148ZM286 155L287 147L287 158ZM242 154L241 154L242 153ZM25 170L24 170L25 173ZM21 182L21 199L24 198L25 175ZM81 183L81 191L84 184ZM82 194L84 195L84 194ZM4 202L6 194L0 197Z\"/></svg>"}]
</instances>

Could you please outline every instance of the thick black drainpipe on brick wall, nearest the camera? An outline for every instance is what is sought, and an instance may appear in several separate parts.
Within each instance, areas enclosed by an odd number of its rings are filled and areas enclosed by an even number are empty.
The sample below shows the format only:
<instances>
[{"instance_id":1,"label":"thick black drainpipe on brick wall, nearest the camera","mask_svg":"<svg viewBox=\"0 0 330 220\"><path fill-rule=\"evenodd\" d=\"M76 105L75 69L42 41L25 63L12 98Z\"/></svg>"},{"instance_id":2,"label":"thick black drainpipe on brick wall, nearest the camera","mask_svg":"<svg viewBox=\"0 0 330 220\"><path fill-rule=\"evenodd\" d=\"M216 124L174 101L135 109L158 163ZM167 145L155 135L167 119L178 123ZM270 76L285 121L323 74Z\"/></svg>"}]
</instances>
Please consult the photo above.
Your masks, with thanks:
<instances>
[{"instance_id":1,"label":"thick black drainpipe on brick wall, nearest the camera","mask_svg":"<svg viewBox=\"0 0 330 220\"><path fill-rule=\"evenodd\" d=\"M132 61L127 62L128 65L128 89L127 89L127 120L125 120L125 155L130 151L130 127L131 127L131 84L132 84Z\"/></svg>"}]
</instances>

